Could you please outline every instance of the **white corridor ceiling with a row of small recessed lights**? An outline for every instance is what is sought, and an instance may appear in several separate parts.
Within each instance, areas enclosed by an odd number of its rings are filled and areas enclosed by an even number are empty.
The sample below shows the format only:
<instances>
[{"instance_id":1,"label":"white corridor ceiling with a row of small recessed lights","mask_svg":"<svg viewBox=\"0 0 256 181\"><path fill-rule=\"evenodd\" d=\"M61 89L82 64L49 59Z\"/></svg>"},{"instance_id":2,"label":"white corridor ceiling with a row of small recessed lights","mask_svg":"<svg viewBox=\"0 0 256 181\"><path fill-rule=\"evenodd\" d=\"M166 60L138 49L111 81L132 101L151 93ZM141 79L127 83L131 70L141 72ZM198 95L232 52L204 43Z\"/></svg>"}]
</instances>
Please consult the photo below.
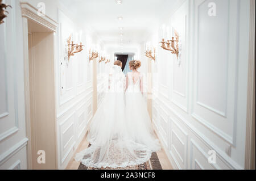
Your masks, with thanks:
<instances>
[{"instance_id":1,"label":"white corridor ceiling with a row of small recessed lights","mask_svg":"<svg viewBox=\"0 0 256 181\"><path fill-rule=\"evenodd\" d=\"M122 0L118 5L115 0L61 0L110 46L142 43L177 1L180 0ZM119 16L123 19L118 20Z\"/></svg>"}]
</instances>

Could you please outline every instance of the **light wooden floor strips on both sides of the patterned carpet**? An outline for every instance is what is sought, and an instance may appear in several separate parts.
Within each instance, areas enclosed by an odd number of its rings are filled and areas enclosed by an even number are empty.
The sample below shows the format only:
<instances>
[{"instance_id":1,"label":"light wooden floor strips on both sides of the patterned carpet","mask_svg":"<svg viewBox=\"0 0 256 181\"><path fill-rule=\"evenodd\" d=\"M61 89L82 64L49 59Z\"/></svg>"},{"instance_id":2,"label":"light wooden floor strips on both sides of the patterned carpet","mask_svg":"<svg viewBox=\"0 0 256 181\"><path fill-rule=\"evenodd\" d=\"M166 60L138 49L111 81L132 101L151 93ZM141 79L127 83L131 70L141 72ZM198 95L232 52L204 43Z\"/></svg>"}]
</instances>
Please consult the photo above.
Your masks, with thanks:
<instances>
[{"instance_id":1,"label":"light wooden floor strips on both sides of the patterned carpet","mask_svg":"<svg viewBox=\"0 0 256 181\"><path fill-rule=\"evenodd\" d=\"M84 137L84 139L81 141L81 144L77 148L76 153L79 153L80 151L88 148L88 145L89 145L89 142ZM74 159L76 153L71 158L71 161L69 161L66 170L77 170L79 168L80 162L76 162ZM172 170L171 163L168 160L166 153L164 153L164 150L161 149L160 151L158 151L157 154L163 170Z\"/></svg>"}]
</instances>

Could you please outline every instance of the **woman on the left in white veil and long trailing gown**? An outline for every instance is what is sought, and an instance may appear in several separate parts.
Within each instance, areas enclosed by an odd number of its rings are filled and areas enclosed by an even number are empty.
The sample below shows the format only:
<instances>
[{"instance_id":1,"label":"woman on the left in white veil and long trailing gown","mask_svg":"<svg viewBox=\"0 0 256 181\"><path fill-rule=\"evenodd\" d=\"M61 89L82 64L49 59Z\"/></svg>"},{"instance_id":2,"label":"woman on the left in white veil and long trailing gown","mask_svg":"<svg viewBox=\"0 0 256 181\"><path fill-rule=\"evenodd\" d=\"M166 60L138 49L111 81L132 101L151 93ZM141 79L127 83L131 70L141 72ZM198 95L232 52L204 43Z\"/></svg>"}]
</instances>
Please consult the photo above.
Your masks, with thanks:
<instances>
[{"instance_id":1,"label":"woman on the left in white veil and long trailing gown","mask_svg":"<svg viewBox=\"0 0 256 181\"><path fill-rule=\"evenodd\" d=\"M109 92L89 126L87 139L91 146L77 153L75 157L76 161L81 161L88 167L124 168L144 163L151 157L152 145L144 140L144 136L139 140L141 132L136 136L131 130L134 129L133 124L128 123L124 92L125 75L122 73L122 64L119 61L115 64L110 70Z\"/></svg>"}]
</instances>

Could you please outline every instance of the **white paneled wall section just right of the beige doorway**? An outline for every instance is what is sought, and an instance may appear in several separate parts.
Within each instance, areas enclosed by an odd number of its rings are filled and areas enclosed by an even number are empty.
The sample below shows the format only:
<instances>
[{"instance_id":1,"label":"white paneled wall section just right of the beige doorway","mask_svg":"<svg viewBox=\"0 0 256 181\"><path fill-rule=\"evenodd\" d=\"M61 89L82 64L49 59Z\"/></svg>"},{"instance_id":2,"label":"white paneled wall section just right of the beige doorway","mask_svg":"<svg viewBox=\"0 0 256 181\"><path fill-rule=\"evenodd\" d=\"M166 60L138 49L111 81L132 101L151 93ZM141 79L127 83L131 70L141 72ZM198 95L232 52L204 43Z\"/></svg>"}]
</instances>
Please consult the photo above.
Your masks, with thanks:
<instances>
[{"instance_id":1,"label":"white paneled wall section just right of the beige doorway","mask_svg":"<svg viewBox=\"0 0 256 181\"><path fill-rule=\"evenodd\" d=\"M90 32L77 26L61 10L59 10L59 23L59 60L56 61L57 142L59 169L65 169L84 137L86 125L93 116L93 64L89 62L86 39ZM67 53L65 48L71 33L75 43L82 41L85 49L68 60L65 56Z\"/></svg>"}]
</instances>

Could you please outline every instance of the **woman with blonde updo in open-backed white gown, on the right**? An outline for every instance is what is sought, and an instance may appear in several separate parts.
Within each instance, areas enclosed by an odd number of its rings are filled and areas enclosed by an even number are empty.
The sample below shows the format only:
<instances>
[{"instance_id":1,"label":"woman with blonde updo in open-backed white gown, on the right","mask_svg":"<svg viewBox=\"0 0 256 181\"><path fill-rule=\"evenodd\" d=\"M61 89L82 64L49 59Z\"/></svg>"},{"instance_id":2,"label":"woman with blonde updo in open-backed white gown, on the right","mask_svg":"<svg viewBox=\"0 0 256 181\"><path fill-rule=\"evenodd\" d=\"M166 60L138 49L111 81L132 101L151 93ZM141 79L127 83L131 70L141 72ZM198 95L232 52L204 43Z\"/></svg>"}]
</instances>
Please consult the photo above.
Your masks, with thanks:
<instances>
[{"instance_id":1,"label":"woman with blonde updo in open-backed white gown, on the right","mask_svg":"<svg viewBox=\"0 0 256 181\"><path fill-rule=\"evenodd\" d=\"M132 71L126 75L125 93L127 131L135 142L155 152L160 149L160 144L154 136L143 98L143 75L137 70L141 67L141 61L130 61L129 66Z\"/></svg>"}]
</instances>

